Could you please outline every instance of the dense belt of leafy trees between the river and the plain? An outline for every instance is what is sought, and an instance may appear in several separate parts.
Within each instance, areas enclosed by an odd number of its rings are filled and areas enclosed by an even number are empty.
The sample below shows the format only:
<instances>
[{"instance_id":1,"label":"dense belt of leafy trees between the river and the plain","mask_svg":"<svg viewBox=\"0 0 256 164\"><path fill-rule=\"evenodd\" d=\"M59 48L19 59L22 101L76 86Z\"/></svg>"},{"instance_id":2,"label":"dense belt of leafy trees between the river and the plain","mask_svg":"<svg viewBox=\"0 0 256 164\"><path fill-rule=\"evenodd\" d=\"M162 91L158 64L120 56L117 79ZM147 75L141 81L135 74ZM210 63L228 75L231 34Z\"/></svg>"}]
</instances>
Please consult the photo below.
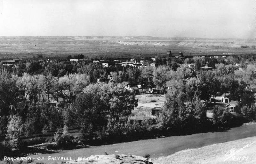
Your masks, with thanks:
<instances>
[{"instance_id":1,"label":"dense belt of leafy trees between the river and the plain","mask_svg":"<svg viewBox=\"0 0 256 164\"><path fill-rule=\"evenodd\" d=\"M252 59L250 55L225 60L221 57L182 60L156 56L155 62L162 65L141 68L102 67L99 63L65 60L26 61L16 68L1 66L0 140L8 140L19 148L22 137L47 134L68 126L78 128L85 141L114 142L252 121L256 115L256 67ZM170 65L164 65L166 61ZM147 62L152 60L145 60ZM240 64L236 66L235 62ZM195 64L195 69L189 65L191 63ZM201 71L200 67L205 64L215 69ZM154 89L166 96L157 120L132 124L122 119L129 117L138 105L135 92L124 89L121 84L125 81L131 86L140 84L142 92ZM227 109L216 108L213 121L209 123L204 100L215 103L216 96L224 92L230 93L230 100L241 101L238 118ZM72 139L60 134L56 142L64 146Z\"/></svg>"}]
</instances>

